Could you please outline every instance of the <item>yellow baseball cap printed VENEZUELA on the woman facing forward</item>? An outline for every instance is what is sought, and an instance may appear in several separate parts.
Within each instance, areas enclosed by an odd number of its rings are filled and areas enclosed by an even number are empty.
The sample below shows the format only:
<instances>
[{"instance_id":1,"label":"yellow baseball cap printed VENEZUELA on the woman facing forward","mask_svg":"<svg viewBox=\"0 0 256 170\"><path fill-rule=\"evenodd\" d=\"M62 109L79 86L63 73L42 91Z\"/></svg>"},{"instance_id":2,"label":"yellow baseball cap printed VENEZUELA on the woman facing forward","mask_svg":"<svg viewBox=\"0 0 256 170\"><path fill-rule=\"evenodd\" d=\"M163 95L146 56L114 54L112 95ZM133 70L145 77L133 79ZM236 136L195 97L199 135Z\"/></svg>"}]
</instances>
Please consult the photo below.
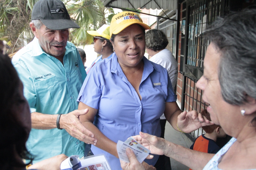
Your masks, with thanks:
<instances>
[{"instance_id":1,"label":"yellow baseball cap printed VENEZUELA on the woman facing forward","mask_svg":"<svg viewBox=\"0 0 256 170\"><path fill-rule=\"evenodd\" d=\"M113 16L110 23L110 37L118 34L132 24L140 24L145 30L151 29L144 24L142 19L135 12L123 11Z\"/></svg>"}]
</instances>

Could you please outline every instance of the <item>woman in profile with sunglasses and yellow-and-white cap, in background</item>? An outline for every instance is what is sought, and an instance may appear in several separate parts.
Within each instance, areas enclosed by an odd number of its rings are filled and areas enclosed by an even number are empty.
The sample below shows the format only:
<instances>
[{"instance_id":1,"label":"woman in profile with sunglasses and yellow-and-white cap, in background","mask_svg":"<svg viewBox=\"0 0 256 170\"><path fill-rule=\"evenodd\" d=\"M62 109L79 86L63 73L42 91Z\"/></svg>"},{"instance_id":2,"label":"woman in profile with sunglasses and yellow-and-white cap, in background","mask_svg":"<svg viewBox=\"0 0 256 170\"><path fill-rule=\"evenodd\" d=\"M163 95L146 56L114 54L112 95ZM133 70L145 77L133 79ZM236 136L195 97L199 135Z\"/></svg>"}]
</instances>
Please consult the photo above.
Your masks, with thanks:
<instances>
[{"instance_id":1,"label":"woman in profile with sunglasses and yellow-and-white cap, in background","mask_svg":"<svg viewBox=\"0 0 256 170\"><path fill-rule=\"evenodd\" d=\"M96 60L92 62L92 65L86 70L87 74L93 66L104 58L111 58L113 54L113 46L109 41L109 26L107 24L102 25L97 31L87 31L88 34L93 36L93 48L94 51L100 54Z\"/></svg>"}]
</instances>

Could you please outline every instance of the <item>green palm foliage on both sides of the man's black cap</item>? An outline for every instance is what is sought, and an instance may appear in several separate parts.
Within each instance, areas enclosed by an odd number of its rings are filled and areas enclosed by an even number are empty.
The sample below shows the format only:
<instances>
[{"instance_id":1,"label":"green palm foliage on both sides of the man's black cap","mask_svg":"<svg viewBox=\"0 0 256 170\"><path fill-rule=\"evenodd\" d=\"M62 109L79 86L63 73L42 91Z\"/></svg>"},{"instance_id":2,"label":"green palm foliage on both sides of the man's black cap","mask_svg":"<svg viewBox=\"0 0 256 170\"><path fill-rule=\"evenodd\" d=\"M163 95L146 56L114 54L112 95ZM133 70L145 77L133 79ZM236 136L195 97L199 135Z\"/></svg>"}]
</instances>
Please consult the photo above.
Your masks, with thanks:
<instances>
[{"instance_id":1,"label":"green palm foliage on both sides of the man's black cap","mask_svg":"<svg viewBox=\"0 0 256 170\"><path fill-rule=\"evenodd\" d=\"M29 27L31 11L39 0L0 0L0 38L9 43L8 53L14 53L33 40ZM87 30L97 30L103 24L110 24L114 15L112 8L105 8L101 0L62 0L80 29L70 29L69 41L75 45L93 42Z\"/></svg>"}]
</instances>

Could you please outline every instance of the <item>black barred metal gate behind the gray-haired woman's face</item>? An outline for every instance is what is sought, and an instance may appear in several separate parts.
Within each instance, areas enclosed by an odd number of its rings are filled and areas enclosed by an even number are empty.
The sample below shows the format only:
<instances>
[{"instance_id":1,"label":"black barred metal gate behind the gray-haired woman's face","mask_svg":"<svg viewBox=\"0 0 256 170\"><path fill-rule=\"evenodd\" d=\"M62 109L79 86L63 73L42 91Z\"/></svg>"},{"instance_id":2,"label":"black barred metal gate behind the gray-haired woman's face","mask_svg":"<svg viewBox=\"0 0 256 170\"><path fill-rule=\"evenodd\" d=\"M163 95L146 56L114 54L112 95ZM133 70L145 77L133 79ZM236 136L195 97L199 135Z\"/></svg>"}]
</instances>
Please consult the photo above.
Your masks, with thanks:
<instances>
[{"instance_id":1,"label":"black barred metal gate behind the gray-haired woman's face","mask_svg":"<svg viewBox=\"0 0 256 170\"><path fill-rule=\"evenodd\" d=\"M182 17L185 15L185 21L182 24L185 25L185 34L181 36L180 51L180 73L183 74L181 108L200 112L208 106L202 100L202 90L195 85L203 75L204 57L209 45L205 31L218 16L223 16L225 3L224 0L191 0L184 3L182 5L186 9L183 8ZM191 134L198 137L202 129Z\"/></svg>"}]
</instances>

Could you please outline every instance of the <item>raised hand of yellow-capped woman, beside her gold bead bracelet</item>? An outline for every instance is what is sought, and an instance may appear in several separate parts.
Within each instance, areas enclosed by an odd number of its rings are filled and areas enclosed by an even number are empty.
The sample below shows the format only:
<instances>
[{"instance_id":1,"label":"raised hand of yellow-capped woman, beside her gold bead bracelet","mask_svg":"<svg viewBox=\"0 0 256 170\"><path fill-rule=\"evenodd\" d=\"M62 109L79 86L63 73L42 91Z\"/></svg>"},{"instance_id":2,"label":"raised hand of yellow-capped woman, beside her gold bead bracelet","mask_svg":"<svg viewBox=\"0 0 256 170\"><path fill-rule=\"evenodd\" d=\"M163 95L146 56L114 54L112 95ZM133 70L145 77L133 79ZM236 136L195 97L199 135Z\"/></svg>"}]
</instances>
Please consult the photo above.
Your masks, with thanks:
<instances>
[{"instance_id":1,"label":"raised hand of yellow-capped woman, beside her gold bead bracelet","mask_svg":"<svg viewBox=\"0 0 256 170\"><path fill-rule=\"evenodd\" d=\"M177 123L179 129L186 133L193 132L202 126L214 124L212 121L207 120L205 116L202 116L201 113L197 113L195 110L180 113L178 115Z\"/></svg>"}]
</instances>

